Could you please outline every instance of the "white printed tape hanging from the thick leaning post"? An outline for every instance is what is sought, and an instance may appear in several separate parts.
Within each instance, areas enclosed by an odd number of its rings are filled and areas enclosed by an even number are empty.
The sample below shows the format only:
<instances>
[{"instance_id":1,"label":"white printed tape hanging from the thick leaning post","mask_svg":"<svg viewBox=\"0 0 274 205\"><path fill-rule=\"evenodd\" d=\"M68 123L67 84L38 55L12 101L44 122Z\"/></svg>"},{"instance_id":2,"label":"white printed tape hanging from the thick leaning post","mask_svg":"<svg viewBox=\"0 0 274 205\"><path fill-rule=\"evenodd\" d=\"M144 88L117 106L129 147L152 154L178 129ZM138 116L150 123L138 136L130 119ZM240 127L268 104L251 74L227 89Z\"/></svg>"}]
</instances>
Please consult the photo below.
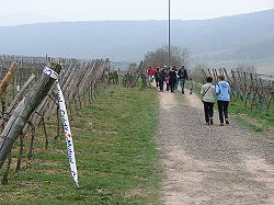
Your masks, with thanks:
<instances>
[{"instance_id":1,"label":"white printed tape hanging from the thick leaning post","mask_svg":"<svg viewBox=\"0 0 274 205\"><path fill-rule=\"evenodd\" d=\"M56 83L57 83L57 100L58 100L59 106L60 106L62 129L64 129L64 134L66 136L66 141L67 141L68 158L69 158L69 163L70 163L70 172L71 172L72 180L75 181L76 185L79 187L73 140L72 140L72 136L71 136L71 132L70 132L66 102L65 102L65 99L64 99L64 94L62 94L60 84L58 82L58 73L55 72L54 70L52 70L48 67L45 67L43 72L45 75L49 76L50 78L55 79Z\"/></svg>"}]
</instances>

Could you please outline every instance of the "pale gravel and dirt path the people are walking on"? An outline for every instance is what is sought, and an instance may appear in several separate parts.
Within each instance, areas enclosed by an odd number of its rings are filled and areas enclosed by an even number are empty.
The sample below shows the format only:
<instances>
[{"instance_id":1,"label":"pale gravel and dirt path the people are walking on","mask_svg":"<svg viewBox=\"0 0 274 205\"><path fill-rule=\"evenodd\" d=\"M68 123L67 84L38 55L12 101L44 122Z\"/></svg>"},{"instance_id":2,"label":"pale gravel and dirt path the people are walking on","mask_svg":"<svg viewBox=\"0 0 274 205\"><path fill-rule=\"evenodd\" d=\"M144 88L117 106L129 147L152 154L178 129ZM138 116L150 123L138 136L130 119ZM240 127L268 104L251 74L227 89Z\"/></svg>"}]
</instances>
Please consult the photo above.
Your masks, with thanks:
<instances>
[{"instance_id":1,"label":"pale gravel and dirt path the people are walking on","mask_svg":"<svg viewBox=\"0 0 274 205\"><path fill-rule=\"evenodd\" d=\"M202 103L159 93L164 204L274 204L274 144L231 123L204 123Z\"/></svg>"}]
</instances>

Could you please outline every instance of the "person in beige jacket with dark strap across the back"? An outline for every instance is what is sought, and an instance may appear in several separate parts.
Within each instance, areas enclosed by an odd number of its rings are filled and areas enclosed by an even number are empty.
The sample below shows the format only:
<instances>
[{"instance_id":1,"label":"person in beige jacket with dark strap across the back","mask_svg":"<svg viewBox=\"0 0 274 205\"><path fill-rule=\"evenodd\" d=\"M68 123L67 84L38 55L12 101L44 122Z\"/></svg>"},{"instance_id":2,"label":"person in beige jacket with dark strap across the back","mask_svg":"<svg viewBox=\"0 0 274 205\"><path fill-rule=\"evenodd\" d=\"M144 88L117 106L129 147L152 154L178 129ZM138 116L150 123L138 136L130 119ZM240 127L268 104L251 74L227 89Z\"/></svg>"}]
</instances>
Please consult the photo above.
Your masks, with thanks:
<instances>
[{"instance_id":1,"label":"person in beige jacket with dark strap across the back","mask_svg":"<svg viewBox=\"0 0 274 205\"><path fill-rule=\"evenodd\" d=\"M207 77L206 83L201 90L202 102L204 104L205 122L207 125L213 125L213 114L214 114L214 102L215 102L215 86L213 84L213 78Z\"/></svg>"}]
</instances>

